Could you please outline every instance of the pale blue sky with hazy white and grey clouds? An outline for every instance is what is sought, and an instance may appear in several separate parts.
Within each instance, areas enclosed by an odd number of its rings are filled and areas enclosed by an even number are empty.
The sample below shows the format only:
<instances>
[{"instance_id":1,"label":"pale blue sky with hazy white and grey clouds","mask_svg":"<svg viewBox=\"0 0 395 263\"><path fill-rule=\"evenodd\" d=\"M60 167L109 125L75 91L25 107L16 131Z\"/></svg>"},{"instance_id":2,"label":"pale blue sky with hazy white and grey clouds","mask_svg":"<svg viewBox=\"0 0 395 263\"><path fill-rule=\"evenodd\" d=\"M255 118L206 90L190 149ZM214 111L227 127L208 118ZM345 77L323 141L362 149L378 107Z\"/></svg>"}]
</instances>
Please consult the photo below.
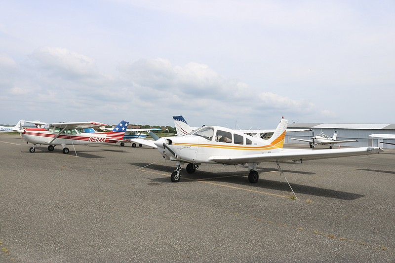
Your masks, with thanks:
<instances>
[{"instance_id":1,"label":"pale blue sky with hazy white and grey clouds","mask_svg":"<svg viewBox=\"0 0 395 263\"><path fill-rule=\"evenodd\" d=\"M0 123L395 123L393 0L2 0Z\"/></svg>"}]
</instances>

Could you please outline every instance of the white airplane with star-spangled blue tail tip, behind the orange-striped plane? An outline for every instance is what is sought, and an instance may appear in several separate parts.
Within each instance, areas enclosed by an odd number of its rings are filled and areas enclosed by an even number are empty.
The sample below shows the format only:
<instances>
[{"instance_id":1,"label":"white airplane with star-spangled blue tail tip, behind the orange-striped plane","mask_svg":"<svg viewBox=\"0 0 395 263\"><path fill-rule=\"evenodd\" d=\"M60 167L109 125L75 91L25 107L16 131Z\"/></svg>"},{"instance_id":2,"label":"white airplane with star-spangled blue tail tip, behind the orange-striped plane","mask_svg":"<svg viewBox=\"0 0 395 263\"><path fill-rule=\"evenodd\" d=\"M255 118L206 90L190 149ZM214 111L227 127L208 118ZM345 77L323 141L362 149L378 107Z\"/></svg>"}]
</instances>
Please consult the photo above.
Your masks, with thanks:
<instances>
[{"instance_id":1,"label":"white airplane with star-spangled blue tail tip, behind the orange-striped plane","mask_svg":"<svg viewBox=\"0 0 395 263\"><path fill-rule=\"evenodd\" d=\"M173 116L174 125L176 126L177 136L185 136L197 128L190 127L185 118L182 115ZM260 137L262 139L270 138L271 135L276 131L275 129L258 129L258 130L235 130L238 132L246 133L254 137ZM312 129L286 129L286 132L300 132L300 131L312 131Z\"/></svg>"}]
</instances>

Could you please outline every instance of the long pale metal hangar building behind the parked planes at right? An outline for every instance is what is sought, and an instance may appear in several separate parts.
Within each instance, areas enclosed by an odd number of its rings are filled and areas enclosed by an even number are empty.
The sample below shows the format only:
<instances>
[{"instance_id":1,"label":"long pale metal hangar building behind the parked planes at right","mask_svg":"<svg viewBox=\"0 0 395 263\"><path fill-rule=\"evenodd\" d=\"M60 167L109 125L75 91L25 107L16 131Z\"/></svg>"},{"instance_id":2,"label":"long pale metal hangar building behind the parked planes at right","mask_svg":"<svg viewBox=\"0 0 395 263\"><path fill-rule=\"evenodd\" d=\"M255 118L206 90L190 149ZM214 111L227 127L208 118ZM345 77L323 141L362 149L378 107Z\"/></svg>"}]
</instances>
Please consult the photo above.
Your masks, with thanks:
<instances>
[{"instance_id":1,"label":"long pale metal hangar building behind the parked planes at right","mask_svg":"<svg viewBox=\"0 0 395 263\"><path fill-rule=\"evenodd\" d=\"M349 147L368 147L376 146L386 149L395 149L395 145L382 144L380 142L393 143L394 139L382 139L369 137L370 134L395 134L395 124L334 124L334 123L299 123L293 122L288 124L287 128L294 129L313 129L314 135L318 135L321 132L332 137L335 131L337 131L337 140L358 140L358 142L344 143L340 146ZM285 134L285 143L300 143L308 144L307 142L290 140L289 137L311 140L313 132L287 132ZM325 146L323 146L325 147ZM335 145L338 147L338 145ZM335 148L334 147L334 148Z\"/></svg>"}]
</instances>

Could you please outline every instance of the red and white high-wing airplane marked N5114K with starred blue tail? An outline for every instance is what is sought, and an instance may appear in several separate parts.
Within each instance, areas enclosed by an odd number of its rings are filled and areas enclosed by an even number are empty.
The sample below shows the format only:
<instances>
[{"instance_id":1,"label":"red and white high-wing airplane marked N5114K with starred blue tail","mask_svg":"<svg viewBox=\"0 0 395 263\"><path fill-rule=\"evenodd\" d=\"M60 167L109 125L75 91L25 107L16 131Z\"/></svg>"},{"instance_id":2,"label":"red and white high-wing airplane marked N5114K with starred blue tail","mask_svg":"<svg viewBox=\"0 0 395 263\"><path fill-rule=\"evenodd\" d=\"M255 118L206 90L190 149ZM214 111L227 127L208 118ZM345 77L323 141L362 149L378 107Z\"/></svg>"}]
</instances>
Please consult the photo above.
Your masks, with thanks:
<instances>
[{"instance_id":1,"label":"red and white high-wing airplane marked N5114K with starred blue tail","mask_svg":"<svg viewBox=\"0 0 395 263\"><path fill-rule=\"evenodd\" d=\"M121 121L111 132L107 133L80 133L77 129L108 126L107 124L87 122L59 122L44 123L40 121L26 121L36 124L37 128L23 129L22 137L27 143L32 143L30 152L35 152L36 145L48 145L48 150L53 151L56 145L63 147L63 153L69 153L66 145L76 144L102 144L116 143L122 140L129 122Z\"/></svg>"}]
</instances>

